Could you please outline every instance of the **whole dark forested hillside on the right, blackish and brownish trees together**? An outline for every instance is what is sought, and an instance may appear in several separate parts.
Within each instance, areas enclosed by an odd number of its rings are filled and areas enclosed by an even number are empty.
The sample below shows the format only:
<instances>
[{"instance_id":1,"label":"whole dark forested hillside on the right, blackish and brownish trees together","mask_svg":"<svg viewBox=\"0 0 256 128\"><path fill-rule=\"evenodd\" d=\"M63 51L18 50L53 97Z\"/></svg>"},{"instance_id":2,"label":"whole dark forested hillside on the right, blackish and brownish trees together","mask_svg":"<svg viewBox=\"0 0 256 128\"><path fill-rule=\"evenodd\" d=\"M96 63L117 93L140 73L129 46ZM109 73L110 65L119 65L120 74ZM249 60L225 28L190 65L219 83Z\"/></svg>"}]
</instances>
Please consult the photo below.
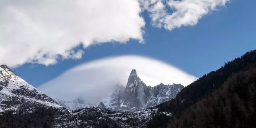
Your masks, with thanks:
<instances>
[{"instance_id":1,"label":"whole dark forested hillside on the right, blackish and brownish trees together","mask_svg":"<svg viewBox=\"0 0 256 128\"><path fill-rule=\"evenodd\" d=\"M256 50L253 50L202 76L157 108L173 114L170 128L255 127L255 68ZM153 119L149 124L161 122Z\"/></svg>"}]
</instances>

